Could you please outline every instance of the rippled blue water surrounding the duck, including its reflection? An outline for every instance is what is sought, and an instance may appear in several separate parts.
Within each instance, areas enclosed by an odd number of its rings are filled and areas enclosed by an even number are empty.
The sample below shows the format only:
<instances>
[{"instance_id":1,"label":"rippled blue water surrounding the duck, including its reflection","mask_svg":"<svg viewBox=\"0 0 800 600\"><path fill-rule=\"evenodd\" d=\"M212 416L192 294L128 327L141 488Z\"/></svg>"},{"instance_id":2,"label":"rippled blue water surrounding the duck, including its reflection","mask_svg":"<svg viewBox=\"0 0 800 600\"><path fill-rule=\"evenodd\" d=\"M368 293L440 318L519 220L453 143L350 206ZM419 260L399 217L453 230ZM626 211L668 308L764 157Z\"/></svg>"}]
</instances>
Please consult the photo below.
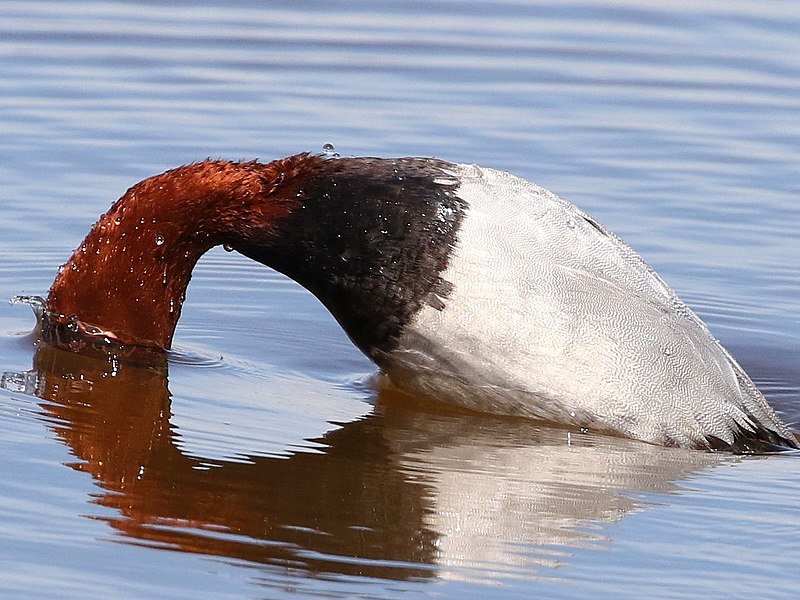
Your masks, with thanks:
<instances>
[{"instance_id":1,"label":"rippled blue water surrounding the duck, including its reflection","mask_svg":"<svg viewBox=\"0 0 800 600\"><path fill-rule=\"evenodd\" d=\"M205 157L508 169L622 235L800 429L800 5L0 3L0 299ZM551 5L553 4L553 5ZM793 597L800 462L408 406L215 250L168 375L0 304L4 598Z\"/></svg>"}]
</instances>

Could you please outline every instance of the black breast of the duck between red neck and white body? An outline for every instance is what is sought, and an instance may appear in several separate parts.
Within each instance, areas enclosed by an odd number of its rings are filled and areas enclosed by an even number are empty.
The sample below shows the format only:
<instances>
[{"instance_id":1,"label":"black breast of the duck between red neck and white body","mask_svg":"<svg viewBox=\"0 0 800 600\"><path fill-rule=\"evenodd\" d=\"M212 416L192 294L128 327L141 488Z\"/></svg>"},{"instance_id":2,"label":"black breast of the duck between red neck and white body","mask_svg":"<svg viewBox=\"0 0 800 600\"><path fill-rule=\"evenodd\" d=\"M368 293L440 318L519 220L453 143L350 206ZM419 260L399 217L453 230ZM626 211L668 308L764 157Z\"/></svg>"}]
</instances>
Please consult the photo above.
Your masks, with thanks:
<instances>
[{"instance_id":1,"label":"black breast of the duck between red neck and white body","mask_svg":"<svg viewBox=\"0 0 800 600\"><path fill-rule=\"evenodd\" d=\"M454 165L425 158L324 161L268 246L243 254L291 277L368 356L391 350L424 305L444 307L441 277L465 202Z\"/></svg>"}]
</instances>

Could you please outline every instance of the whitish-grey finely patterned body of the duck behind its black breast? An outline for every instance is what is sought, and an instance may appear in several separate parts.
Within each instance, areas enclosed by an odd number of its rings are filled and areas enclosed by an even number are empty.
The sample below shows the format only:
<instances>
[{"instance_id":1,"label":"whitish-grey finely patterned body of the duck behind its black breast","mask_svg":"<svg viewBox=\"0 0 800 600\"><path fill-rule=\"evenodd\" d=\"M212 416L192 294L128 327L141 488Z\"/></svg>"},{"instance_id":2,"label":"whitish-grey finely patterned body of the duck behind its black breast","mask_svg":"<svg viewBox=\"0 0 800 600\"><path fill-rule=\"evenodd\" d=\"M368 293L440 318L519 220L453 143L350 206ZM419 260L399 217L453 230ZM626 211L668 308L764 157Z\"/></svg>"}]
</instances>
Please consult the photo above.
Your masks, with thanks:
<instances>
[{"instance_id":1,"label":"whitish-grey finely patterned body of the duck behind its black breast","mask_svg":"<svg viewBox=\"0 0 800 600\"><path fill-rule=\"evenodd\" d=\"M619 238L522 179L458 166L468 203L442 278L385 365L471 408L667 445L794 439L700 319ZM440 310L441 309L441 310ZM398 377L398 380L400 378Z\"/></svg>"}]
</instances>

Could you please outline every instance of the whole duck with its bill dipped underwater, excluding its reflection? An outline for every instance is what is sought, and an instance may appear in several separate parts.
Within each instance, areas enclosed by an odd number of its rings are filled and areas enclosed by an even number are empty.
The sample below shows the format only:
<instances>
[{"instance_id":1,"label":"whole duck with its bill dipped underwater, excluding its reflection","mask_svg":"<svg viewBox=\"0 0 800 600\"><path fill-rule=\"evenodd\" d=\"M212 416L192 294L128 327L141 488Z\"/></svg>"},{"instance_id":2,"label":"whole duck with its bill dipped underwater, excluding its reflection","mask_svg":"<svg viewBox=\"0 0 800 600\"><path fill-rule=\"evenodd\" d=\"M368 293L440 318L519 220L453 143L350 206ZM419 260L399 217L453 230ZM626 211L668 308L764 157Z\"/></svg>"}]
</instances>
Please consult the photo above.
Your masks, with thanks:
<instances>
[{"instance_id":1,"label":"whole duck with its bill dipped underwater, excluding its reflection","mask_svg":"<svg viewBox=\"0 0 800 600\"><path fill-rule=\"evenodd\" d=\"M56 278L48 331L169 347L225 244L313 292L400 387L674 446L797 447L761 393L616 236L491 169L298 155L147 179Z\"/></svg>"}]
</instances>

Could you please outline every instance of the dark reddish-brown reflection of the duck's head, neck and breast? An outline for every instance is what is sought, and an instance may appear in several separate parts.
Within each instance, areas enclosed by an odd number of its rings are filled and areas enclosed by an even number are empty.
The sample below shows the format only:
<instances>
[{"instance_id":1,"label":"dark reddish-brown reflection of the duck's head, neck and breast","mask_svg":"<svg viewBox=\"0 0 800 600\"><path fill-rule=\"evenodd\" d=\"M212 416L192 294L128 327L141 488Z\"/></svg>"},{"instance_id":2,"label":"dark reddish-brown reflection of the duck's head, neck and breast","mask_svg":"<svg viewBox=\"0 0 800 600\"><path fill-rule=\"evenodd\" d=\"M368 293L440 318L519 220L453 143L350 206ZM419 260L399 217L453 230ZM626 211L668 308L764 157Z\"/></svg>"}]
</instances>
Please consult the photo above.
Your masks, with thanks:
<instances>
[{"instance_id":1,"label":"dark reddish-brown reflection of the duck's head, neck and breast","mask_svg":"<svg viewBox=\"0 0 800 600\"><path fill-rule=\"evenodd\" d=\"M47 345L37 348L34 368L47 420L78 459L70 466L103 489L95 501L114 509L108 521L124 536L313 571L432 574L411 566L434 556L435 535L423 523L428 494L392 464L380 421L327 434L324 453L255 456L209 469L174 443L165 368ZM299 557L298 549L365 560Z\"/></svg>"}]
</instances>

